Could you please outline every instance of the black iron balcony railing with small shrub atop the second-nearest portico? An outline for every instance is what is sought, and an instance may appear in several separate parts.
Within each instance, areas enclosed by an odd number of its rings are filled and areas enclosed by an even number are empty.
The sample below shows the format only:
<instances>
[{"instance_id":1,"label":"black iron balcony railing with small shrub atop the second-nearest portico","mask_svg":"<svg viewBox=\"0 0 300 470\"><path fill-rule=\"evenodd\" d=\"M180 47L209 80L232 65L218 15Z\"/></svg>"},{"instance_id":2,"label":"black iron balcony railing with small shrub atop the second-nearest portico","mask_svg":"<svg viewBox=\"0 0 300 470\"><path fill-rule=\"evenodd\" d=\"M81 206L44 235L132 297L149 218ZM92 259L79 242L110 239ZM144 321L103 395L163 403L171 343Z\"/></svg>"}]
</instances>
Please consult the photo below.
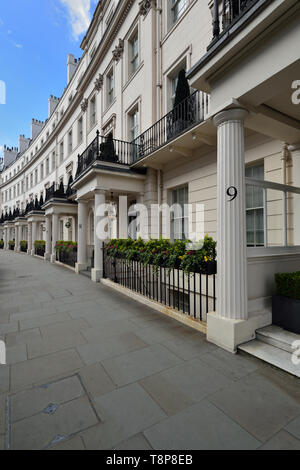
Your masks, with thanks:
<instances>
[{"instance_id":1,"label":"black iron balcony railing with small shrub atop the second-nearest portico","mask_svg":"<svg viewBox=\"0 0 300 470\"><path fill-rule=\"evenodd\" d=\"M76 178L82 175L95 162L131 165L133 155L138 151L136 144L100 136L97 131L96 138L91 142L82 155L78 156Z\"/></svg>"}]
</instances>

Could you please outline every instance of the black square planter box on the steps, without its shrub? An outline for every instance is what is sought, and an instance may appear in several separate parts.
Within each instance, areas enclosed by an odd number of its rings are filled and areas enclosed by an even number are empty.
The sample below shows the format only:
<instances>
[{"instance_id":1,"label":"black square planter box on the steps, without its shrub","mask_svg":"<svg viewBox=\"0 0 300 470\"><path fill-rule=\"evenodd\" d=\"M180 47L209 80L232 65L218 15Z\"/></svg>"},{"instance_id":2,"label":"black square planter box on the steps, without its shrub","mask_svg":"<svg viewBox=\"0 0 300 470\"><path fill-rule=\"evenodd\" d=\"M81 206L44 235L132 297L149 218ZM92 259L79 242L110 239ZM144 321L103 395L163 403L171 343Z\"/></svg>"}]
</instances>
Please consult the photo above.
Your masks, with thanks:
<instances>
[{"instance_id":1,"label":"black square planter box on the steps, without its shrub","mask_svg":"<svg viewBox=\"0 0 300 470\"><path fill-rule=\"evenodd\" d=\"M272 300L273 324L300 334L300 300L274 295Z\"/></svg>"}]
</instances>

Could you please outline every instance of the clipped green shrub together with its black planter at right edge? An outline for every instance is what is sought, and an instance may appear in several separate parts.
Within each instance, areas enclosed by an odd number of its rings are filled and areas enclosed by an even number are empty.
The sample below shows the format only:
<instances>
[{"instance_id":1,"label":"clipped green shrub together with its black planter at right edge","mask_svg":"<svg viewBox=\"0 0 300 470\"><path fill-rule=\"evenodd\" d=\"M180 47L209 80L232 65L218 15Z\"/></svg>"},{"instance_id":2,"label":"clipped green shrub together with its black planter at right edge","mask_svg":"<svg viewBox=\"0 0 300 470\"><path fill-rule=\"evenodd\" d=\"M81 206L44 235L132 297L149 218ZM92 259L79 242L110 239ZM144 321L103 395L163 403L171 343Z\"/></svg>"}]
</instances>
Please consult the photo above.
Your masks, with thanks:
<instances>
[{"instance_id":1,"label":"clipped green shrub together with its black planter at right edge","mask_svg":"<svg viewBox=\"0 0 300 470\"><path fill-rule=\"evenodd\" d=\"M300 271L275 275L276 295L273 296L273 324L300 334Z\"/></svg>"}]
</instances>

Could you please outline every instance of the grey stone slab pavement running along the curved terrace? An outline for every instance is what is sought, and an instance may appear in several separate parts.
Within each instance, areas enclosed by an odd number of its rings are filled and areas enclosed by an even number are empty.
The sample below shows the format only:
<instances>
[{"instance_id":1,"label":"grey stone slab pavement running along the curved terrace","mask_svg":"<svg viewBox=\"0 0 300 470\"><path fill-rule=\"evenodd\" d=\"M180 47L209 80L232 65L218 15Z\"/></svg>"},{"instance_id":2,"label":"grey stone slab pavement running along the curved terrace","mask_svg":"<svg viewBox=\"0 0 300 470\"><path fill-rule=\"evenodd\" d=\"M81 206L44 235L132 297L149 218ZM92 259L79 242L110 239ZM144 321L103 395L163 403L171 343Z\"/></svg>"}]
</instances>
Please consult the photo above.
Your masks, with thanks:
<instances>
[{"instance_id":1,"label":"grey stone slab pavement running along the curved terrace","mask_svg":"<svg viewBox=\"0 0 300 470\"><path fill-rule=\"evenodd\" d=\"M0 252L0 449L300 449L299 379Z\"/></svg>"}]
</instances>

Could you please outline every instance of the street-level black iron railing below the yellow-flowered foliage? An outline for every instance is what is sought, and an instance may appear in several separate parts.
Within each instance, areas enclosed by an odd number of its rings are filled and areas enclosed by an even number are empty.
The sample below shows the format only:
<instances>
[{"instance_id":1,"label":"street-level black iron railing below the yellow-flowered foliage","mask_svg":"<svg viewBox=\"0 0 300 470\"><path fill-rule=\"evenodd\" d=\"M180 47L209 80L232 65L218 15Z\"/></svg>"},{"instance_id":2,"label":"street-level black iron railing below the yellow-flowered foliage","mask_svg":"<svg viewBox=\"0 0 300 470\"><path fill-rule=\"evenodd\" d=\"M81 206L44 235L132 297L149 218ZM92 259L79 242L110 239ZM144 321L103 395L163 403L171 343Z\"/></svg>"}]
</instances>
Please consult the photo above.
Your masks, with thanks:
<instances>
[{"instance_id":1,"label":"street-level black iron railing below the yellow-flowered foliage","mask_svg":"<svg viewBox=\"0 0 300 470\"><path fill-rule=\"evenodd\" d=\"M185 274L180 269L144 265L138 261L111 258L104 250L104 278L148 299L203 321L216 309L215 274Z\"/></svg>"}]
</instances>

